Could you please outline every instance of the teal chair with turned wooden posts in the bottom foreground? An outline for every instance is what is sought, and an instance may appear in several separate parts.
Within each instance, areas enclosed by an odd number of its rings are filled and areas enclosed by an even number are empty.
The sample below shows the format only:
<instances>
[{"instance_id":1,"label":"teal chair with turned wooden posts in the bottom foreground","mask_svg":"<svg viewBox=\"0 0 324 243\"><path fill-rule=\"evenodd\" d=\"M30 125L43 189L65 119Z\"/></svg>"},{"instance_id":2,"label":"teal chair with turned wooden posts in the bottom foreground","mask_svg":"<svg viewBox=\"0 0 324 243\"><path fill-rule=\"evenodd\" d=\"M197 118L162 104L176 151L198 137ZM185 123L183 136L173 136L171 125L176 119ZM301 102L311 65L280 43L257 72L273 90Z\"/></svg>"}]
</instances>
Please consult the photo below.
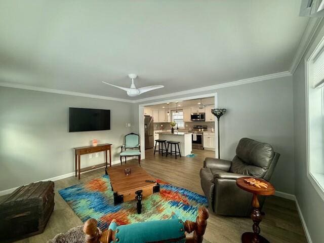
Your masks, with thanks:
<instances>
[{"instance_id":1,"label":"teal chair with turned wooden posts in the bottom foreground","mask_svg":"<svg viewBox=\"0 0 324 243\"><path fill-rule=\"evenodd\" d=\"M86 243L201 243L203 242L208 217L208 210L205 207L200 207L196 222L189 220L183 222L175 214L167 220L119 226L113 219L108 229L104 231L97 228L97 220L88 219L83 231L86 236ZM186 237L185 232L193 232L193 235Z\"/></svg>"}]
</instances>

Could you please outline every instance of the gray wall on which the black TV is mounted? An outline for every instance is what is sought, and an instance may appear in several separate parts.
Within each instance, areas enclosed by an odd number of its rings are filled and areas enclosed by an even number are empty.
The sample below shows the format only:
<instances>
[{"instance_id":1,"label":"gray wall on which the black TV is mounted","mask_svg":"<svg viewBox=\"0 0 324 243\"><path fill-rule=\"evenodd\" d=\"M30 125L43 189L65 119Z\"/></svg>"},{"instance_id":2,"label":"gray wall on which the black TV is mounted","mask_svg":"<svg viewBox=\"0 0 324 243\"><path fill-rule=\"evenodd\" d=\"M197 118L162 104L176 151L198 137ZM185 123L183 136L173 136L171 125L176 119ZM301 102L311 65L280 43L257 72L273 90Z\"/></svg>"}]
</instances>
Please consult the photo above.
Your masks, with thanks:
<instances>
[{"instance_id":1,"label":"gray wall on which the black TV is mounted","mask_svg":"<svg viewBox=\"0 0 324 243\"><path fill-rule=\"evenodd\" d=\"M111 110L111 130L68 132L68 107ZM0 191L74 171L73 147L111 143L112 161L132 128L130 103L0 87ZM103 163L82 155L82 167Z\"/></svg>"}]
</instances>

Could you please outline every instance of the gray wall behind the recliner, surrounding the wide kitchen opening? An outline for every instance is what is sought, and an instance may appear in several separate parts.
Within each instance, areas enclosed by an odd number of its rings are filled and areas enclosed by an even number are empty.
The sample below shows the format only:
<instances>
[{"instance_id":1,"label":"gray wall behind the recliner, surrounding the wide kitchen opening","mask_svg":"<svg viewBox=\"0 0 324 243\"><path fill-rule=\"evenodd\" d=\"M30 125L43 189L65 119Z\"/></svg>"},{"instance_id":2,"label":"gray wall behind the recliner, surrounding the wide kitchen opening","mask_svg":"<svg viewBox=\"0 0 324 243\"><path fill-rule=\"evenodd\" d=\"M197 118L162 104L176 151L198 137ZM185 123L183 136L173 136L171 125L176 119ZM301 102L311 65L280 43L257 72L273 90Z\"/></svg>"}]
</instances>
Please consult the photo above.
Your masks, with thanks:
<instances>
[{"instance_id":1,"label":"gray wall behind the recliner, surrounding the wide kitchen opening","mask_svg":"<svg viewBox=\"0 0 324 243\"><path fill-rule=\"evenodd\" d=\"M218 107L228 109L220 124L221 157L232 159L237 142L242 137L270 143L281 154L271 182L278 191L294 194L292 76L205 93L213 92L218 94ZM201 94L204 93L191 96ZM156 101L161 100L145 103ZM138 104L134 104L133 123L134 129L138 129Z\"/></svg>"}]
</instances>

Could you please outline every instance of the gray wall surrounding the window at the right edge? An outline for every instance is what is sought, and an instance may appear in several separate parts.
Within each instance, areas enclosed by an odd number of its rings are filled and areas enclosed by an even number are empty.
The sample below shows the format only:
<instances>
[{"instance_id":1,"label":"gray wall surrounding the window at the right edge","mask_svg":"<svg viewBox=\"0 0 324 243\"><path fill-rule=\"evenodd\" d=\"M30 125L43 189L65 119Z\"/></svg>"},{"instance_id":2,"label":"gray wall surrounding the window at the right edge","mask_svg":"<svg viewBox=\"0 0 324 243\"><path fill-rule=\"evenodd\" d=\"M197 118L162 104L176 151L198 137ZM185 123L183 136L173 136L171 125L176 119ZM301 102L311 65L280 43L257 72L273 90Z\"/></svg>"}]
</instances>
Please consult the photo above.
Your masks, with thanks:
<instances>
[{"instance_id":1,"label":"gray wall surrounding the window at the right edge","mask_svg":"<svg viewBox=\"0 0 324 243\"><path fill-rule=\"evenodd\" d=\"M321 31L321 34L319 34ZM318 28L314 39L323 35L323 26ZM314 43L314 40L312 43ZM316 39L315 42L318 40ZM317 42L318 43L318 42ZM316 43L316 44L317 44ZM307 51L306 51L307 53ZM295 133L295 195L305 219L313 243L324 241L324 201L309 179L306 167L306 109L305 109L305 62L302 58L293 75L294 87L294 133Z\"/></svg>"}]
</instances>

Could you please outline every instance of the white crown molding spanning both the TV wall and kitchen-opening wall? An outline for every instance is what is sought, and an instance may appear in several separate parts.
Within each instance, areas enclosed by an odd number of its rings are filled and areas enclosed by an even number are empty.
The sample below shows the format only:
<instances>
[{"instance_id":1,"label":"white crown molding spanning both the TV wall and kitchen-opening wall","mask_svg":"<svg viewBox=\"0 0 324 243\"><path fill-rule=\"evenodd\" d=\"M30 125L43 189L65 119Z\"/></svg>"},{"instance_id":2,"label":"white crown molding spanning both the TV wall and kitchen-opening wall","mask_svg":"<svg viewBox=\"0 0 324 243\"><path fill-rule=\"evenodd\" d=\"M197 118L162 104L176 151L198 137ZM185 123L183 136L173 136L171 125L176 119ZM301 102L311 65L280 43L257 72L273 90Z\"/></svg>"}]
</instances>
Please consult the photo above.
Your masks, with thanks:
<instances>
[{"instance_id":1,"label":"white crown molding spanning both the TV wall and kitchen-opening wall","mask_svg":"<svg viewBox=\"0 0 324 243\"><path fill-rule=\"evenodd\" d=\"M223 84L219 84L219 85L206 86L206 87L201 87L201 88L197 88L197 89L185 90L185 91L180 91L180 92L176 92L176 93L158 95L158 96L137 99L137 100L120 99L120 98L114 98L114 97L108 97L108 96L77 93L77 92L64 91L64 90L55 90L55 89L48 89L48 88L29 86L29 85L21 85L21 84L13 84L13 83L6 83L6 82L0 82L0 87L2 86L2 87L24 89L24 90L34 90L34 91L41 91L41 92L48 92L48 93L55 93L55 94L62 94L62 95L82 96L82 97L87 97L87 98L114 100L114 101L121 101L121 102L128 102L128 103L140 103L140 102L144 102L144 101L169 98L169 97L174 97L174 96L179 96L179 95L187 95L187 94L192 94L192 93L197 93L197 92L211 91L211 90L215 90L215 89L222 89L222 88L227 88L227 87L232 87L232 86L237 86L237 85L245 85L245 84L260 82L260 81L279 78L279 77L286 77L286 76L291 76L291 75L292 74L289 71L278 72L278 73L272 73L272 74L267 74L267 75L263 75L263 76L240 79L240 80L236 80L234 82L223 83Z\"/></svg>"}]
</instances>

